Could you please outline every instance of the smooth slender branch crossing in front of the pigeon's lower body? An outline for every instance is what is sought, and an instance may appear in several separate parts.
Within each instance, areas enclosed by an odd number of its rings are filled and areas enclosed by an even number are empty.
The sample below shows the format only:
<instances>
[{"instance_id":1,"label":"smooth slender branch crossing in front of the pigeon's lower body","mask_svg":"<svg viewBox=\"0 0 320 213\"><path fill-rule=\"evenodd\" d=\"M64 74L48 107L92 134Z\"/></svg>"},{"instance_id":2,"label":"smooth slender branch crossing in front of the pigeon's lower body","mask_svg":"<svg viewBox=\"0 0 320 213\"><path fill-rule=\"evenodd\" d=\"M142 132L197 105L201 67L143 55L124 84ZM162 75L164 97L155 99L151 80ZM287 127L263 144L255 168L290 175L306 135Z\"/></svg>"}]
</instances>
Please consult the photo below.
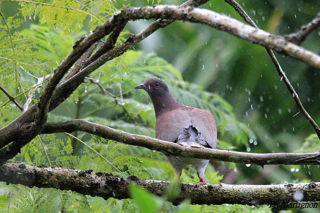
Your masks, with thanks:
<instances>
[{"instance_id":1,"label":"smooth slender branch crossing in front of the pigeon's lower body","mask_svg":"<svg viewBox=\"0 0 320 213\"><path fill-rule=\"evenodd\" d=\"M320 153L256 154L182 146L177 143L161 141L147 136L126 133L117 129L112 129L108 126L91 123L81 119L47 123L44 125L44 129L41 133L71 133L75 131L83 131L108 140L114 140L133 146L145 147L174 156L195 157L200 159L218 160L241 164L257 164L261 166L270 164L320 164Z\"/></svg>"}]
</instances>

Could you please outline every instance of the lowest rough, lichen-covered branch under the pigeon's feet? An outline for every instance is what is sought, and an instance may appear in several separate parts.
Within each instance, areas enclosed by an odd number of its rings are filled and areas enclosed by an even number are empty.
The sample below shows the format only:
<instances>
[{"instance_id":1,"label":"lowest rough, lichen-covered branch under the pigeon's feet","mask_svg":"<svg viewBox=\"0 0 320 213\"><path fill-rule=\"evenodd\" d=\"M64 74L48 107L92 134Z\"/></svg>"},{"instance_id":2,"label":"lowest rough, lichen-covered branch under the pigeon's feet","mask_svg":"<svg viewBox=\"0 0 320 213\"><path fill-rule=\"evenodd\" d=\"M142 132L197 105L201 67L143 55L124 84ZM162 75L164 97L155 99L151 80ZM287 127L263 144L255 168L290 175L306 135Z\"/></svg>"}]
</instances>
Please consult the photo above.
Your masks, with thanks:
<instances>
[{"instance_id":1,"label":"lowest rough, lichen-covered branch under the pigeon's feet","mask_svg":"<svg viewBox=\"0 0 320 213\"><path fill-rule=\"evenodd\" d=\"M122 178L109 173L92 170L64 169L59 166L28 165L19 162L7 163L0 168L0 181L22 184L28 187L57 188L72 190L80 194L100 196L104 199L130 198L129 185L143 187L152 194L162 196L170 182L145 180L135 176ZM228 185L215 184L197 187L182 183L179 194L170 202L179 204L185 199L192 204L242 204L263 205L272 202L294 202L294 194L302 193L302 201L320 201L320 183L299 183L281 185Z\"/></svg>"}]
</instances>

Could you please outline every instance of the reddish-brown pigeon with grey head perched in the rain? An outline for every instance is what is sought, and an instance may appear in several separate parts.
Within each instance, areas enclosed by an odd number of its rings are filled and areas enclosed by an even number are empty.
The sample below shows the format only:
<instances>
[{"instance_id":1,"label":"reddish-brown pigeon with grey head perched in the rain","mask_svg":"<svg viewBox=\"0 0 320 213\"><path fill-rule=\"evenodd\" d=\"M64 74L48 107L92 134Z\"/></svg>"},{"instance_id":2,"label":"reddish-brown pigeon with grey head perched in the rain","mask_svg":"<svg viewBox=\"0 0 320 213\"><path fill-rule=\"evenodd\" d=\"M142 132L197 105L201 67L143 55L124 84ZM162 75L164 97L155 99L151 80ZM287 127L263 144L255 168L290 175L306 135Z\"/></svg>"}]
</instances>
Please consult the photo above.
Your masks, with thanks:
<instances>
[{"instance_id":1,"label":"reddish-brown pigeon with grey head perched in the rain","mask_svg":"<svg viewBox=\"0 0 320 213\"><path fill-rule=\"evenodd\" d=\"M183 146L216 148L217 126L207 110L185 106L169 92L166 83L156 77L147 78L135 89L144 89L150 96L156 114L156 138ZM204 170L209 160L166 155L176 178L180 180L182 169L191 165L199 177L197 186L208 185Z\"/></svg>"}]
</instances>

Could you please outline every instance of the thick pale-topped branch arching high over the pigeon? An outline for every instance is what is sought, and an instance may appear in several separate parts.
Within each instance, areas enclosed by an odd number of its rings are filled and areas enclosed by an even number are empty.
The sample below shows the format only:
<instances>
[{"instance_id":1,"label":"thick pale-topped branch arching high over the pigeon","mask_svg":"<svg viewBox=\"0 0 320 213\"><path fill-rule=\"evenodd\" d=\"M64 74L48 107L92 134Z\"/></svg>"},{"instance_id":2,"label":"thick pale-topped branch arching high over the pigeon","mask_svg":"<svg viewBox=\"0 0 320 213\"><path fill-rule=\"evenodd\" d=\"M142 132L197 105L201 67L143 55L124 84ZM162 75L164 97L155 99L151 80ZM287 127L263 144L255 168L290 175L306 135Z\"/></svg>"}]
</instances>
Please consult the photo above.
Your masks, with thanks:
<instances>
[{"instance_id":1,"label":"thick pale-topped branch arching high over the pigeon","mask_svg":"<svg viewBox=\"0 0 320 213\"><path fill-rule=\"evenodd\" d=\"M5 126L0 130L0 147L4 147L11 141L22 141L23 143L28 143L32 138L35 137L36 134L41 130L41 125L45 120L45 115L47 112L47 101L50 100L58 100L55 103L51 104L51 107L58 106L61 102L64 101L64 94L70 95L72 91L79 86L84 77L88 75L90 72L93 72L96 68L104 64L107 60L110 60L117 55L121 55L126 49L121 49L123 46L117 46L107 53L99 57L95 62L91 65L84 68L84 70L77 73L67 82L62 84L61 90L59 92L56 89L56 93L54 93L53 97L51 96L53 93L53 89L58 84L59 80L62 76L67 72L67 70L71 67L71 65L82 55L82 53L87 50L93 43L99 41L104 35L109 34L112 30L119 26L120 23L123 23L128 20L137 20L137 19L179 19L179 20L188 20L190 22L202 23L214 27L219 30L226 31L230 34L236 35L237 37L243 38L247 41L251 41L253 43L260 44L265 47L269 47L271 49L275 49L276 51L282 52L284 54L288 54L294 58L301 60L302 62L311 65L315 68L320 68L320 57L315 53L301 48L298 45L295 45L291 42L287 42L283 37L273 36L269 33L256 29L254 27L245 25L240 21L229 18L228 16L221 15L219 13L205 10L205 9L197 9L190 7L181 7L181 6L166 6L166 5L157 5L152 7L142 7L142 8L132 8L128 7L113 16L112 18L106 20L103 24L96 27L96 29L89 34L88 36L84 36L78 42L76 42L74 49L69 53L69 55L65 58L64 61L61 62L59 67L56 69L54 77L52 77L51 83L48 83L46 88L42 94L44 99L41 99L41 106L38 108L38 104L35 104L25 113L23 113L20 117L18 117L15 121L10 123L8 126ZM151 31L150 31L151 32ZM141 35L143 37L143 35ZM129 41L132 38L129 37ZM124 43L124 45L126 42ZM134 45L132 42L128 47ZM73 82L73 83L70 83ZM62 96L63 98L60 98ZM68 97L68 96L67 96ZM34 113L36 109L39 109L40 113L37 113L36 120L41 122L37 122L40 125L35 125L34 121ZM50 110L50 108L49 108ZM44 115L42 117L41 115ZM26 130L26 131L24 131ZM18 150L19 151L19 150Z\"/></svg>"}]
</instances>

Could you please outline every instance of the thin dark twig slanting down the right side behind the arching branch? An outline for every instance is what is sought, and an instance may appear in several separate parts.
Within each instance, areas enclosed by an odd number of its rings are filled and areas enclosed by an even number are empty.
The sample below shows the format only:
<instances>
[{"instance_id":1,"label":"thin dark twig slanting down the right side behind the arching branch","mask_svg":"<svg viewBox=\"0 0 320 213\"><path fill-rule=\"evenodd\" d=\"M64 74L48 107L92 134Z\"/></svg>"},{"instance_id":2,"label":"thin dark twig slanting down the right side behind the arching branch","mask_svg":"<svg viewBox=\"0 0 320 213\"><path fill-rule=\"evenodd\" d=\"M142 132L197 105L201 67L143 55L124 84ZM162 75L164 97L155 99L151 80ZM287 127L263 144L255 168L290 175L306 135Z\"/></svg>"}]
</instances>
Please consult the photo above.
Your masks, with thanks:
<instances>
[{"instance_id":1,"label":"thin dark twig slanting down the right side behind the arching branch","mask_svg":"<svg viewBox=\"0 0 320 213\"><path fill-rule=\"evenodd\" d=\"M246 23L250 24L252 27L258 28L257 25L252 21L252 19L244 11L244 9L242 9L242 7L235 0L224 0L224 1L227 2L228 4L230 4L237 11L237 13L239 13L239 15L244 19L244 21ZM319 15L320 15L320 13L319 13ZM320 16L318 18L319 18L319 24L320 24ZM296 93L296 91L292 87L289 79L286 77L285 73L283 72L278 60L276 59L275 54L268 47L266 47L266 50L267 50L267 52L268 52L273 64L275 65L275 67L276 67L276 69L278 71L278 75L281 77L281 79L284 80L284 83L287 86L287 88L289 90L289 93L292 96L293 100L295 101L298 109L303 114L303 116L310 122L311 126L314 128L314 130L316 131L317 136L320 139L320 128L319 128L319 126L311 118L311 116L308 114L308 112L304 109L298 94Z\"/></svg>"}]
</instances>

